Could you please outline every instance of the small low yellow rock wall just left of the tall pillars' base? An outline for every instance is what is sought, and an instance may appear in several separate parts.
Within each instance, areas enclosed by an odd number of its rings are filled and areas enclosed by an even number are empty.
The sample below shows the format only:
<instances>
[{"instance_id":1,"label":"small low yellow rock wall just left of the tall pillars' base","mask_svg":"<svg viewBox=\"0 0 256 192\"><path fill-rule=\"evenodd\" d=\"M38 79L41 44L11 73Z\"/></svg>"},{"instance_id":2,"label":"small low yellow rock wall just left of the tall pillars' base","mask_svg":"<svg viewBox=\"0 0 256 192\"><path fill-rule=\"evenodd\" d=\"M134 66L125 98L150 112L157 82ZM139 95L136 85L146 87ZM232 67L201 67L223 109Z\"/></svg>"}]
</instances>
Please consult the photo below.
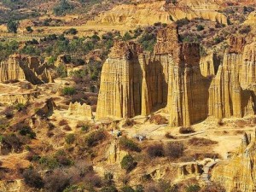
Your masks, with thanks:
<instances>
[{"instance_id":1,"label":"small low yellow rock wall just left of the tall pillars' base","mask_svg":"<svg viewBox=\"0 0 256 192\"><path fill-rule=\"evenodd\" d=\"M89 119L92 117L90 105L80 104L79 102L69 103L68 114L80 115Z\"/></svg>"}]
</instances>

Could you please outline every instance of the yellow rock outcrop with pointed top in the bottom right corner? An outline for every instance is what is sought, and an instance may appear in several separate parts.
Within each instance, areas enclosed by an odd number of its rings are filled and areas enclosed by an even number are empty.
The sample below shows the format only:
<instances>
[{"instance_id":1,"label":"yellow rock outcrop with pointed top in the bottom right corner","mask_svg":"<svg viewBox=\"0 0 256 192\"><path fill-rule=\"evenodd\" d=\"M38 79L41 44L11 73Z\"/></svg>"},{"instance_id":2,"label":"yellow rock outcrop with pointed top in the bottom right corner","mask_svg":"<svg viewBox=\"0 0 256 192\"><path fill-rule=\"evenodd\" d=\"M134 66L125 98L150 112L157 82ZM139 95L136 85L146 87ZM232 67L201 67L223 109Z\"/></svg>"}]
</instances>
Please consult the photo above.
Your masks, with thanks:
<instances>
[{"instance_id":1,"label":"yellow rock outcrop with pointed top in the bottom right corner","mask_svg":"<svg viewBox=\"0 0 256 192\"><path fill-rule=\"evenodd\" d=\"M256 133L255 133L256 134ZM220 161L213 169L212 180L222 183L227 192L256 190L256 140L245 134L241 146L230 160Z\"/></svg>"}]
</instances>

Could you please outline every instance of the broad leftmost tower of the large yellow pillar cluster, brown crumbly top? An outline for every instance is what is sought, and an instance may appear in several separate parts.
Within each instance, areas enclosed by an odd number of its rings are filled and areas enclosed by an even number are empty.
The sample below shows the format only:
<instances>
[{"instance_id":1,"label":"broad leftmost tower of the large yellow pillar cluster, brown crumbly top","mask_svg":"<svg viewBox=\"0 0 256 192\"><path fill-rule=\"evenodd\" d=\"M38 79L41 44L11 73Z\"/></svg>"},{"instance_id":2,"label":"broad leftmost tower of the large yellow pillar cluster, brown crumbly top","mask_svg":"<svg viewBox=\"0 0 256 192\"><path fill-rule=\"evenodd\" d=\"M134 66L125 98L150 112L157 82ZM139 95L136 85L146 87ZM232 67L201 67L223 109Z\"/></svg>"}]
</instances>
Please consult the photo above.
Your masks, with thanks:
<instances>
[{"instance_id":1,"label":"broad leftmost tower of the large yellow pillar cluster, brown crumbly top","mask_svg":"<svg viewBox=\"0 0 256 192\"><path fill-rule=\"evenodd\" d=\"M116 42L102 67L101 89L96 117L131 118L142 112L144 63L138 55L141 48L132 42ZM147 101L146 101L147 102ZM145 106L148 106L145 104ZM143 109L144 110L144 109Z\"/></svg>"}]
</instances>

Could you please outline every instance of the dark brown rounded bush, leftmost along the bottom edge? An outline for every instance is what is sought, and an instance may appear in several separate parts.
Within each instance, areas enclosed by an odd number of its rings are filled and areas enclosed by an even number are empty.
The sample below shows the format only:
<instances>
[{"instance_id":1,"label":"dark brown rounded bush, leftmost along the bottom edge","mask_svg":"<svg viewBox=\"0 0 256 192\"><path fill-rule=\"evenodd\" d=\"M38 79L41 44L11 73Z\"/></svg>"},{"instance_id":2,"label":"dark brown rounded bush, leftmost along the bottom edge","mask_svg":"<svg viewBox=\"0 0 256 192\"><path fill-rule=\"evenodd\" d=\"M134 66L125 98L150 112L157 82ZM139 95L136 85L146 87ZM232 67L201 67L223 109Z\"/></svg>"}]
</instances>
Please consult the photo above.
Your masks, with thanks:
<instances>
[{"instance_id":1,"label":"dark brown rounded bush, leftmost along the bottom edge","mask_svg":"<svg viewBox=\"0 0 256 192\"><path fill-rule=\"evenodd\" d=\"M44 187L43 178L35 170L27 169L23 172L22 176L24 177L24 181L28 186L37 189Z\"/></svg>"}]
</instances>

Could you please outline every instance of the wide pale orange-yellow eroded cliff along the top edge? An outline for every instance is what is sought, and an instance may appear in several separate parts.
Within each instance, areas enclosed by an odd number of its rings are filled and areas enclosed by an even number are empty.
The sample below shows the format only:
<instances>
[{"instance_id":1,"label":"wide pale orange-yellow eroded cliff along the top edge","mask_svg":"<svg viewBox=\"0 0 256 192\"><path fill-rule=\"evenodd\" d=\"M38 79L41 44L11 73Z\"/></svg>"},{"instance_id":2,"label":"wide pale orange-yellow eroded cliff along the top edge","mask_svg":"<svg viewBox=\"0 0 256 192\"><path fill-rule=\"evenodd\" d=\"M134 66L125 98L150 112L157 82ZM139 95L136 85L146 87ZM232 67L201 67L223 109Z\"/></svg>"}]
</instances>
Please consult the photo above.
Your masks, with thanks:
<instances>
[{"instance_id":1,"label":"wide pale orange-yellow eroded cliff along the top edge","mask_svg":"<svg viewBox=\"0 0 256 192\"><path fill-rule=\"evenodd\" d=\"M97 16L94 21L98 24L125 25L133 28L157 22L170 24L172 20L202 18L227 25L226 16L218 13L218 9L221 9L221 6L216 1L180 1L176 5L170 5L163 0L134 1L131 4L115 6Z\"/></svg>"}]
</instances>

